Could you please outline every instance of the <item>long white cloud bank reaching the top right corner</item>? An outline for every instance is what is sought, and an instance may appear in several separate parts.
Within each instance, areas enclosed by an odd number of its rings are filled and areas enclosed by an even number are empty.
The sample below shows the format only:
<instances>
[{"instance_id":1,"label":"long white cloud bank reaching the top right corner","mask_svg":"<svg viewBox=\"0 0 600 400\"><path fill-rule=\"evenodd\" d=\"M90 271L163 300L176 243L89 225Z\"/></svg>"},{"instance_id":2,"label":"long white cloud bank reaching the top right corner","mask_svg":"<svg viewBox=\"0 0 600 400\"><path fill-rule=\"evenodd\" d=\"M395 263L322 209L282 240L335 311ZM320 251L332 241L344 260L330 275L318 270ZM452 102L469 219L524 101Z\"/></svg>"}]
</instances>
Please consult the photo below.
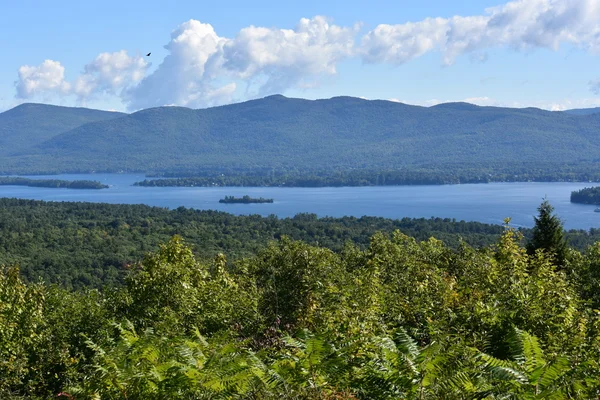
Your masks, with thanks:
<instances>
[{"instance_id":1,"label":"long white cloud bank reaching the top right corner","mask_svg":"<svg viewBox=\"0 0 600 400\"><path fill-rule=\"evenodd\" d=\"M597 0L517 0L486 10L485 15L428 18L398 25L379 25L363 36L363 59L403 64L439 51L445 64L462 54L507 46L517 50L549 48L563 43L600 53L600 2Z\"/></svg>"}]
</instances>

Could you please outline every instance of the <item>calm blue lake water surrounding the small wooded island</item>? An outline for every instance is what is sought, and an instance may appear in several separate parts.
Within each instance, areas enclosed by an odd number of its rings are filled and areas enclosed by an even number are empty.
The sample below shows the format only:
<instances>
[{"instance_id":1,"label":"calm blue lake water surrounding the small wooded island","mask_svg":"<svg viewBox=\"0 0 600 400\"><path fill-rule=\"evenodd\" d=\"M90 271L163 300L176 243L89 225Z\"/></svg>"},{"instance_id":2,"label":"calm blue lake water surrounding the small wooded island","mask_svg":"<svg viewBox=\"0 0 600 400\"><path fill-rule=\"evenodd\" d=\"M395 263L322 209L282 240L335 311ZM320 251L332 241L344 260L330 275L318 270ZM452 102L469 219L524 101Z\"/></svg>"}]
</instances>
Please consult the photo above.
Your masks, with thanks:
<instances>
[{"instance_id":1,"label":"calm blue lake water surrounding the small wooded island","mask_svg":"<svg viewBox=\"0 0 600 400\"><path fill-rule=\"evenodd\" d=\"M556 208L567 229L600 228L595 206L571 204L571 191L590 183L489 183L439 186L384 186L341 188L150 188L131 186L144 175L65 174L28 176L39 179L96 180L110 189L75 190L0 186L0 197L46 201L90 201L101 203L147 204L177 208L213 209L232 214L275 214L291 217L298 213L341 217L352 215L385 218L455 218L502 224L506 217L515 226L533 226L533 216L544 196ZM225 196L265 197L273 204L220 204Z\"/></svg>"}]
</instances>

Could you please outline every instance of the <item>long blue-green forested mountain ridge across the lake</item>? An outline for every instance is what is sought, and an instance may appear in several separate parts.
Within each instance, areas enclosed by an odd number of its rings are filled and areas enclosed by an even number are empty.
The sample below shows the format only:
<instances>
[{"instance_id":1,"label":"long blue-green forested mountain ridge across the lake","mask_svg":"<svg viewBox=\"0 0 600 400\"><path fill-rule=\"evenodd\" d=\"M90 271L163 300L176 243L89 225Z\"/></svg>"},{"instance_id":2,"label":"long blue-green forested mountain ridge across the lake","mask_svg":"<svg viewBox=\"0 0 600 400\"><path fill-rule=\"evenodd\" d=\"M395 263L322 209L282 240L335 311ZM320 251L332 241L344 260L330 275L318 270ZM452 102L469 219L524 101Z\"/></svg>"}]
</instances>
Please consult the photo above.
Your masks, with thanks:
<instances>
[{"instance_id":1,"label":"long blue-green forested mountain ridge across the lake","mask_svg":"<svg viewBox=\"0 0 600 400\"><path fill-rule=\"evenodd\" d=\"M36 133L38 125L24 128L23 140L31 146L0 159L6 169L0 172L451 169L600 160L600 114L534 108L270 96L209 109L160 107L114 116L44 137ZM7 129L5 122L0 129Z\"/></svg>"}]
</instances>

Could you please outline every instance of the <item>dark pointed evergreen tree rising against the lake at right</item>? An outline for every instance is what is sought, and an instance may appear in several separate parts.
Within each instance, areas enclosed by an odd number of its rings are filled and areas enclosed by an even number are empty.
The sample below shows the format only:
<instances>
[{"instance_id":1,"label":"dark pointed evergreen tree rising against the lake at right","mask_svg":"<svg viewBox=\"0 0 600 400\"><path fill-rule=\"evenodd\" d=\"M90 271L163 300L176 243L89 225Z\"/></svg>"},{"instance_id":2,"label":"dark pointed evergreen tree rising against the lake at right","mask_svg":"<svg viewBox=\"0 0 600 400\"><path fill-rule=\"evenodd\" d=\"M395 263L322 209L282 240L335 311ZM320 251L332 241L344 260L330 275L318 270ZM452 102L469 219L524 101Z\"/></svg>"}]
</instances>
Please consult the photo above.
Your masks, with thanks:
<instances>
[{"instance_id":1,"label":"dark pointed evergreen tree rising against the lake at right","mask_svg":"<svg viewBox=\"0 0 600 400\"><path fill-rule=\"evenodd\" d=\"M553 215L553 211L554 207L544 199L538 207L538 216L533 218L535 226L527 251L529 254L535 254L536 250L543 249L553 254L557 264L562 265L567 252L567 241L562 221L558 216Z\"/></svg>"}]
</instances>

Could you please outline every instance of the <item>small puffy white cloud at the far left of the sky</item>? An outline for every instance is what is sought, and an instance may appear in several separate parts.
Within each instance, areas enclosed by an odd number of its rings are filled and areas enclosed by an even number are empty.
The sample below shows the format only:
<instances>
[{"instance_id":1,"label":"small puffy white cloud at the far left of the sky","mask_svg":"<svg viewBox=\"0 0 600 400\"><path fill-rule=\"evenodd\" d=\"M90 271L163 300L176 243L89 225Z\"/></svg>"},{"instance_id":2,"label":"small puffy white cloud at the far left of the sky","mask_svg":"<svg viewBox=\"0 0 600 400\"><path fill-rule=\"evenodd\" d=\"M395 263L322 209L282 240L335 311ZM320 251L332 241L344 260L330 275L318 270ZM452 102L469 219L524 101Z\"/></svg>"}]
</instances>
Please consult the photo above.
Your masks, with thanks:
<instances>
[{"instance_id":1,"label":"small puffy white cloud at the far left of the sky","mask_svg":"<svg viewBox=\"0 0 600 400\"><path fill-rule=\"evenodd\" d=\"M21 66L15 86L17 98L20 99L30 99L37 95L64 95L71 89L71 85L65 81L65 67L53 60L45 60L37 67Z\"/></svg>"}]
</instances>

